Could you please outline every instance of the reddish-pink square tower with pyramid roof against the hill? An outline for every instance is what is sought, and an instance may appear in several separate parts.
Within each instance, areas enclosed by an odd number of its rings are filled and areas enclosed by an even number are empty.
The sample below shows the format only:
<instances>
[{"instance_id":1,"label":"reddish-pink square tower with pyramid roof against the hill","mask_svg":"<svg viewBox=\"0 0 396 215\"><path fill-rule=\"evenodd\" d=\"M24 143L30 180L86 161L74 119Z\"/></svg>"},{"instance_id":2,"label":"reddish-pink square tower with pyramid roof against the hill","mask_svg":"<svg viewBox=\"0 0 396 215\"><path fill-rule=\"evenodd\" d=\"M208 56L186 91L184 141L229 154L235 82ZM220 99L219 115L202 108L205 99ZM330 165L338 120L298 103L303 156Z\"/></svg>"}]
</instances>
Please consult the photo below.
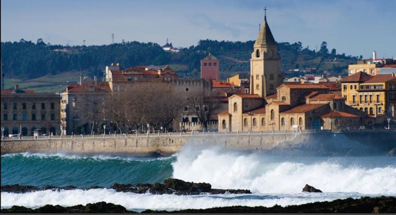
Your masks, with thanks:
<instances>
[{"instance_id":1,"label":"reddish-pink square tower with pyramid roof against the hill","mask_svg":"<svg viewBox=\"0 0 396 215\"><path fill-rule=\"evenodd\" d=\"M211 53L201 60L201 78L220 81L219 60Z\"/></svg>"}]
</instances>

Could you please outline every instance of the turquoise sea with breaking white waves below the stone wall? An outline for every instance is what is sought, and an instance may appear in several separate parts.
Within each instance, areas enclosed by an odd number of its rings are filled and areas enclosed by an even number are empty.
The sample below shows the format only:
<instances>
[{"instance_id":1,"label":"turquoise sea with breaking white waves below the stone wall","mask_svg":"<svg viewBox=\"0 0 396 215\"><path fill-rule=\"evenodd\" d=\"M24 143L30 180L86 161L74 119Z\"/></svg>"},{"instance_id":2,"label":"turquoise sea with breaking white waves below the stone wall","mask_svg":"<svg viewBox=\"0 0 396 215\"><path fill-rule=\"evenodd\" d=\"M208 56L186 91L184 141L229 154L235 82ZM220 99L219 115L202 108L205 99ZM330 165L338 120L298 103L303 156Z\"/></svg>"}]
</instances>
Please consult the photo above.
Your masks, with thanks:
<instances>
[{"instance_id":1,"label":"turquoise sea with breaking white waves below the stone wall","mask_svg":"<svg viewBox=\"0 0 396 215\"><path fill-rule=\"evenodd\" d=\"M173 156L17 153L1 156L1 185L110 187L113 183L162 183L176 178L212 188L249 189L252 194L189 196L91 190L1 192L1 208L37 208L111 202L143 211L205 209L232 205L298 205L361 196L396 196L396 157L317 153L313 149L241 152L187 145ZM322 193L302 192L306 185Z\"/></svg>"}]
</instances>

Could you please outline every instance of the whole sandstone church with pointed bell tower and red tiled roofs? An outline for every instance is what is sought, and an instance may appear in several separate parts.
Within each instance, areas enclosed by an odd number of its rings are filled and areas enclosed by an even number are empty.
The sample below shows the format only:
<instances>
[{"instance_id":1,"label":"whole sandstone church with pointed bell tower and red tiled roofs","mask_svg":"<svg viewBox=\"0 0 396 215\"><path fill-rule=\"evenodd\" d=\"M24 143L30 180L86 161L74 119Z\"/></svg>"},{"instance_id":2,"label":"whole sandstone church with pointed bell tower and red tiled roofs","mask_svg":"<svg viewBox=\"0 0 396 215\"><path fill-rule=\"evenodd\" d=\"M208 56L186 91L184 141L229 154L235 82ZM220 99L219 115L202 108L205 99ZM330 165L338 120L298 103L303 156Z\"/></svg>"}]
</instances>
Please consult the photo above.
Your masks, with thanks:
<instances>
[{"instance_id":1,"label":"whole sandstone church with pointed bell tower and red tiled roofs","mask_svg":"<svg viewBox=\"0 0 396 215\"><path fill-rule=\"evenodd\" d=\"M359 128L366 114L324 84L282 83L277 44L264 17L250 59L250 93L228 97L219 131Z\"/></svg>"}]
</instances>

